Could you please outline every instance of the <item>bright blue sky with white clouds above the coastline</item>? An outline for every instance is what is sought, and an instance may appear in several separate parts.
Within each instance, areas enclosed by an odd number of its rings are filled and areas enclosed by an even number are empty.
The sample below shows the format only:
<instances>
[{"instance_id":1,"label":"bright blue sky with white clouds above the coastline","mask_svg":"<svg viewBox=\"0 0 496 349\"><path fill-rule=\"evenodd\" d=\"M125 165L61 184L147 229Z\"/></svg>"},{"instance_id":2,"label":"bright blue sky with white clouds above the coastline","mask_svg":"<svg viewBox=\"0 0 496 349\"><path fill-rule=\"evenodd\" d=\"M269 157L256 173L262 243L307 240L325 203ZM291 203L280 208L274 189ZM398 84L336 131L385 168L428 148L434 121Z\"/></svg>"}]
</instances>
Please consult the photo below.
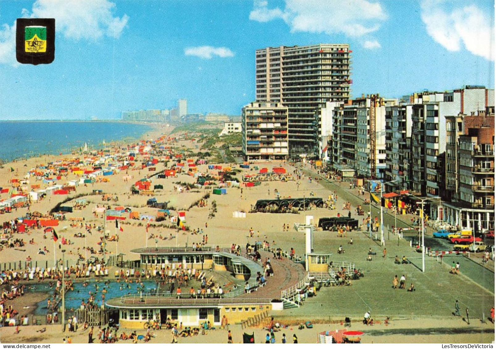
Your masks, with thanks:
<instances>
[{"instance_id":1,"label":"bright blue sky with white clouds above the coastline","mask_svg":"<svg viewBox=\"0 0 496 349\"><path fill-rule=\"evenodd\" d=\"M494 88L489 0L1 0L0 120L240 115L255 50L350 45L352 97ZM17 18L55 18L55 60L20 64Z\"/></svg>"}]
</instances>

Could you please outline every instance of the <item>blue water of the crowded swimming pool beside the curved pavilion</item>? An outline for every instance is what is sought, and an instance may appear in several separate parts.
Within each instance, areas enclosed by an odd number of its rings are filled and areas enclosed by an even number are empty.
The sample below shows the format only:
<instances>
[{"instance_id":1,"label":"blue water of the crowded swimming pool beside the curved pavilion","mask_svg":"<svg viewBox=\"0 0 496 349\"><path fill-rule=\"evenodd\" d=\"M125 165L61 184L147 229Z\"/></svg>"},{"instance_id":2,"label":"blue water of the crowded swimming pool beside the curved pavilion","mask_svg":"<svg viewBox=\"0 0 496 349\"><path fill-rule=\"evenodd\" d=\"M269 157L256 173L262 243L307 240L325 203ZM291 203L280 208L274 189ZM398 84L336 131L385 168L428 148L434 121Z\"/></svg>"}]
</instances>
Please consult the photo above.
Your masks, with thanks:
<instances>
[{"instance_id":1,"label":"blue water of the crowded swimming pool beside the curved pavilion","mask_svg":"<svg viewBox=\"0 0 496 349\"><path fill-rule=\"evenodd\" d=\"M125 282L115 282L115 281L107 281L105 284L104 281L86 281L88 286L83 286L83 282L74 282L73 288L74 290L65 291L65 308L69 309L78 309L81 306L81 301L84 300L86 303L88 298L90 297L90 292L95 296L95 303L100 306L102 304L102 294L105 289L107 293L105 294L105 299L120 297L125 294L134 294L139 293L140 291L145 293L155 293L157 289L157 282L155 281L143 281L143 287L140 284L133 283L125 283ZM55 284L55 283L54 283ZM161 291L160 286L158 286L159 292ZM30 292L49 292L50 297L52 298L53 292L55 291L55 286L50 289L49 284L34 284L29 286ZM164 290L165 291L165 290ZM47 314L47 299L42 300L38 303L38 307L35 311L35 315L46 315Z\"/></svg>"}]
</instances>

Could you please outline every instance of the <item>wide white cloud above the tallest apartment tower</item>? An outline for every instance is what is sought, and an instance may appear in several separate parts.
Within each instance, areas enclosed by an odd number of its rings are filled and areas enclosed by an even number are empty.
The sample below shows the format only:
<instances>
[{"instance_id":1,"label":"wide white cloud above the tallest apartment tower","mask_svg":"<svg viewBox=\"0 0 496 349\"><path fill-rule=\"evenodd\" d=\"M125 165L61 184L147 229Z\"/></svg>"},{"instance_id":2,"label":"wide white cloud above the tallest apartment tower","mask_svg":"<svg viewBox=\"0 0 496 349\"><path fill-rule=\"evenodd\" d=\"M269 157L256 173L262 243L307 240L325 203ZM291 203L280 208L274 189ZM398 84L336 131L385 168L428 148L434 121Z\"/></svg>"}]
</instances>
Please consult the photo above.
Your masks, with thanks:
<instances>
[{"instance_id":1,"label":"wide white cloud above the tallest apartment tower","mask_svg":"<svg viewBox=\"0 0 496 349\"><path fill-rule=\"evenodd\" d=\"M249 18L258 22L282 19L291 32L361 37L379 29L387 18L379 2L368 0L286 0L286 7L269 9L268 1L254 1Z\"/></svg>"}]
</instances>

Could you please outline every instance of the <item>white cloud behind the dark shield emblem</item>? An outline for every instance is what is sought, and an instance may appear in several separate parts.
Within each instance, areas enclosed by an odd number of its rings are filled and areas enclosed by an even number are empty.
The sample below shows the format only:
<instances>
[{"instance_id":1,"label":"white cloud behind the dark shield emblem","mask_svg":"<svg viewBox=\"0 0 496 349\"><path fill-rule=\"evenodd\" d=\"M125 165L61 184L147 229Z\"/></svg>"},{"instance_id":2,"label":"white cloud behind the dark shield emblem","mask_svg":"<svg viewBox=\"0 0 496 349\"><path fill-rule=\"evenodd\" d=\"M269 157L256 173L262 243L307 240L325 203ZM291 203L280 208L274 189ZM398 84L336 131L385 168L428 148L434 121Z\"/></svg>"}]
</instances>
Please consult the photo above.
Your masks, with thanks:
<instances>
[{"instance_id":1,"label":"white cloud behind the dark shield emblem","mask_svg":"<svg viewBox=\"0 0 496 349\"><path fill-rule=\"evenodd\" d=\"M57 34L70 39L98 40L103 36L119 38L129 17L113 15L115 4L109 0L37 0L31 11L20 15L29 18L55 18ZM15 22L0 28L0 64L17 66L15 58Z\"/></svg>"}]
</instances>

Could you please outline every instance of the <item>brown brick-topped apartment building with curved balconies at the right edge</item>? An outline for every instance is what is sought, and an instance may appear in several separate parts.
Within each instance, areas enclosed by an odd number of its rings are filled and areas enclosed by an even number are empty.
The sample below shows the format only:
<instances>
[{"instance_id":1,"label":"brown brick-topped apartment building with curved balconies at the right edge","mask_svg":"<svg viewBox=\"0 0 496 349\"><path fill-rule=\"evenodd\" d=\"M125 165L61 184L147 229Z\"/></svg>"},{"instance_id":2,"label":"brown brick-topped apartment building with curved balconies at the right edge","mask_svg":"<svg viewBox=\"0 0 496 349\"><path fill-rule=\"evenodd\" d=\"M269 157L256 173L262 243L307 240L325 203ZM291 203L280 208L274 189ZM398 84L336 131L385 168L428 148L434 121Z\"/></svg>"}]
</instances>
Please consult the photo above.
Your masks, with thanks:
<instances>
[{"instance_id":1,"label":"brown brick-topped apartment building with curved balconies at the right edge","mask_svg":"<svg viewBox=\"0 0 496 349\"><path fill-rule=\"evenodd\" d=\"M494 110L448 116L446 130L445 220L494 229Z\"/></svg>"}]
</instances>

